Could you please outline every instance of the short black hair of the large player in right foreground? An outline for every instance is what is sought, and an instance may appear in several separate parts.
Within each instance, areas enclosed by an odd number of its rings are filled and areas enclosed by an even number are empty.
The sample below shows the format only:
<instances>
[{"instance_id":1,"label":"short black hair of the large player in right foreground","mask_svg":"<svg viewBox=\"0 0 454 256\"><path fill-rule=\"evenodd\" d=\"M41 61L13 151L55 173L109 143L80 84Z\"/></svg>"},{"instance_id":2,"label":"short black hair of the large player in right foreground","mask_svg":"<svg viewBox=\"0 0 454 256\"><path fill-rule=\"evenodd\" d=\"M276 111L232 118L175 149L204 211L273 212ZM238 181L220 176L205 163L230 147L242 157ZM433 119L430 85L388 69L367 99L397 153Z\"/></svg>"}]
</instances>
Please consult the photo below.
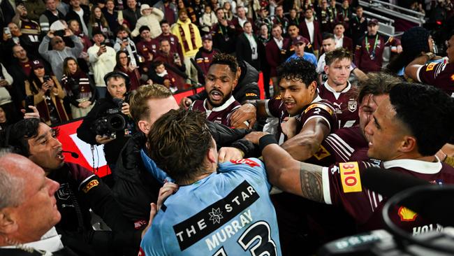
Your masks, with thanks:
<instances>
[{"instance_id":1,"label":"short black hair of the large player in right foreground","mask_svg":"<svg viewBox=\"0 0 454 256\"><path fill-rule=\"evenodd\" d=\"M399 83L389 95L396 118L416 138L421 155L435 155L451 139L454 101L446 92L429 85Z\"/></svg>"}]
</instances>

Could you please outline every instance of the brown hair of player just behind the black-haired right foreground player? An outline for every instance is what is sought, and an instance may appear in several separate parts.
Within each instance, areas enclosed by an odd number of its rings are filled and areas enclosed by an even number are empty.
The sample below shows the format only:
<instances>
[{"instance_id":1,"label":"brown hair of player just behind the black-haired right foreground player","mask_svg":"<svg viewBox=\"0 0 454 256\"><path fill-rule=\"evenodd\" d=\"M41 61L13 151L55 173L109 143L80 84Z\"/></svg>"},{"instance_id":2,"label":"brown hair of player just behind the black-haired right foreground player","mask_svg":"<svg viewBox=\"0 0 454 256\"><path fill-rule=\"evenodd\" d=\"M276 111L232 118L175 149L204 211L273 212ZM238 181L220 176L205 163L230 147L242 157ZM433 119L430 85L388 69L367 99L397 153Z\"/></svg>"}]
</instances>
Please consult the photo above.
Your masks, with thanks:
<instances>
[{"instance_id":1,"label":"brown hair of player just behind the black-haired right foreground player","mask_svg":"<svg viewBox=\"0 0 454 256\"><path fill-rule=\"evenodd\" d=\"M363 98L367 94L372 94L374 96L389 94L391 88L398 83L402 83L402 79L390 75L389 73L368 73L367 80L360 80L358 83L358 86L360 87L358 102L363 101Z\"/></svg>"}]
</instances>

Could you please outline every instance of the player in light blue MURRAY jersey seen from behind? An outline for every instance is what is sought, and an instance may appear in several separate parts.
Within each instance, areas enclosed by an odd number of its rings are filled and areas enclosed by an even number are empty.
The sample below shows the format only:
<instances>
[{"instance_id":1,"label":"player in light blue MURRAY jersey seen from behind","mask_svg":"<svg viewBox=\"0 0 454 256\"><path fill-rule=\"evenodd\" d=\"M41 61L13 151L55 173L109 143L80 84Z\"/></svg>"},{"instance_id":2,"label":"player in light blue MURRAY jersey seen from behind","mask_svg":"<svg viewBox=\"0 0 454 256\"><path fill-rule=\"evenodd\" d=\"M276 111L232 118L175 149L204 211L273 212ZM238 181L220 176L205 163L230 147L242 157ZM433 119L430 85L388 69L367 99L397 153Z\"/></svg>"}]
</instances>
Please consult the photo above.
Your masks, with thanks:
<instances>
[{"instance_id":1,"label":"player in light blue MURRAY jersey seen from behind","mask_svg":"<svg viewBox=\"0 0 454 256\"><path fill-rule=\"evenodd\" d=\"M143 237L145 255L281 255L271 186L259 159L218 169L205 114L184 109L156 120L148 143L152 159L180 188Z\"/></svg>"}]
</instances>

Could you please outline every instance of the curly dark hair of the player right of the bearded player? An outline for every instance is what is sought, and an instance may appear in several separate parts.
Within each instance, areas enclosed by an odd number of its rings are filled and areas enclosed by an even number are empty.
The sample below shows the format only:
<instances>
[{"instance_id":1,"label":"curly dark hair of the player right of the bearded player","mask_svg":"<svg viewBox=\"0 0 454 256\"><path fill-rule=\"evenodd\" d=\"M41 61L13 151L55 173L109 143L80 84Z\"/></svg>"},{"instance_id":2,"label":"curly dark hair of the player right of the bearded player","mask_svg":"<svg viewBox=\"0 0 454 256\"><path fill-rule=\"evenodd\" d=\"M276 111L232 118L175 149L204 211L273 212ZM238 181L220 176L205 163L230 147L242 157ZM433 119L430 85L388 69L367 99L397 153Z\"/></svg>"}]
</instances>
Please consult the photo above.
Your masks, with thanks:
<instances>
[{"instance_id":1,"label":"curly dark hair of the player right of the bearded player","mask_svg":"<svg viewBox=\"0 0 454 256\"><path fill-rule=\"evenodd\" d=\"M317 80L317 72L314 64L305 59L292 59L290 62L284 62L277 68L279 79L301 80L306 87Z\"/></svg>"}]
</instances>

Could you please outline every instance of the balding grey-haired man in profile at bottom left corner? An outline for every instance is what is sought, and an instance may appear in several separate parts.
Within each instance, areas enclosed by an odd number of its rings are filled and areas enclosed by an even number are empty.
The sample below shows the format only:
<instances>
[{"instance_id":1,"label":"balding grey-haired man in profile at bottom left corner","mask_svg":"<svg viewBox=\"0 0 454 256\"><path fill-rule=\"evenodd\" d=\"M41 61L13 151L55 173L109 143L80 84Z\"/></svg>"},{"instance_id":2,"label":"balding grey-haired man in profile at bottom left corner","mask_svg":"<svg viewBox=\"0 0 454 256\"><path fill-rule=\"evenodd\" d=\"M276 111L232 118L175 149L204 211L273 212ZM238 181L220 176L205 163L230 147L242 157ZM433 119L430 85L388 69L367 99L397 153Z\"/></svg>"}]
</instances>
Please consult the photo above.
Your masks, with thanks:
<instances>
[{"instance_id":1,"label":"balding grey-haired man in profile at bottom left corner","mask_svg":"<svg viewBox=\"0 0 454 256\"><path fill-rule=\"evenodd\" d=\"M54 228L58 189L27 157L0 152L0 255L75 255Z\"/></svg>"}]
</instances>

